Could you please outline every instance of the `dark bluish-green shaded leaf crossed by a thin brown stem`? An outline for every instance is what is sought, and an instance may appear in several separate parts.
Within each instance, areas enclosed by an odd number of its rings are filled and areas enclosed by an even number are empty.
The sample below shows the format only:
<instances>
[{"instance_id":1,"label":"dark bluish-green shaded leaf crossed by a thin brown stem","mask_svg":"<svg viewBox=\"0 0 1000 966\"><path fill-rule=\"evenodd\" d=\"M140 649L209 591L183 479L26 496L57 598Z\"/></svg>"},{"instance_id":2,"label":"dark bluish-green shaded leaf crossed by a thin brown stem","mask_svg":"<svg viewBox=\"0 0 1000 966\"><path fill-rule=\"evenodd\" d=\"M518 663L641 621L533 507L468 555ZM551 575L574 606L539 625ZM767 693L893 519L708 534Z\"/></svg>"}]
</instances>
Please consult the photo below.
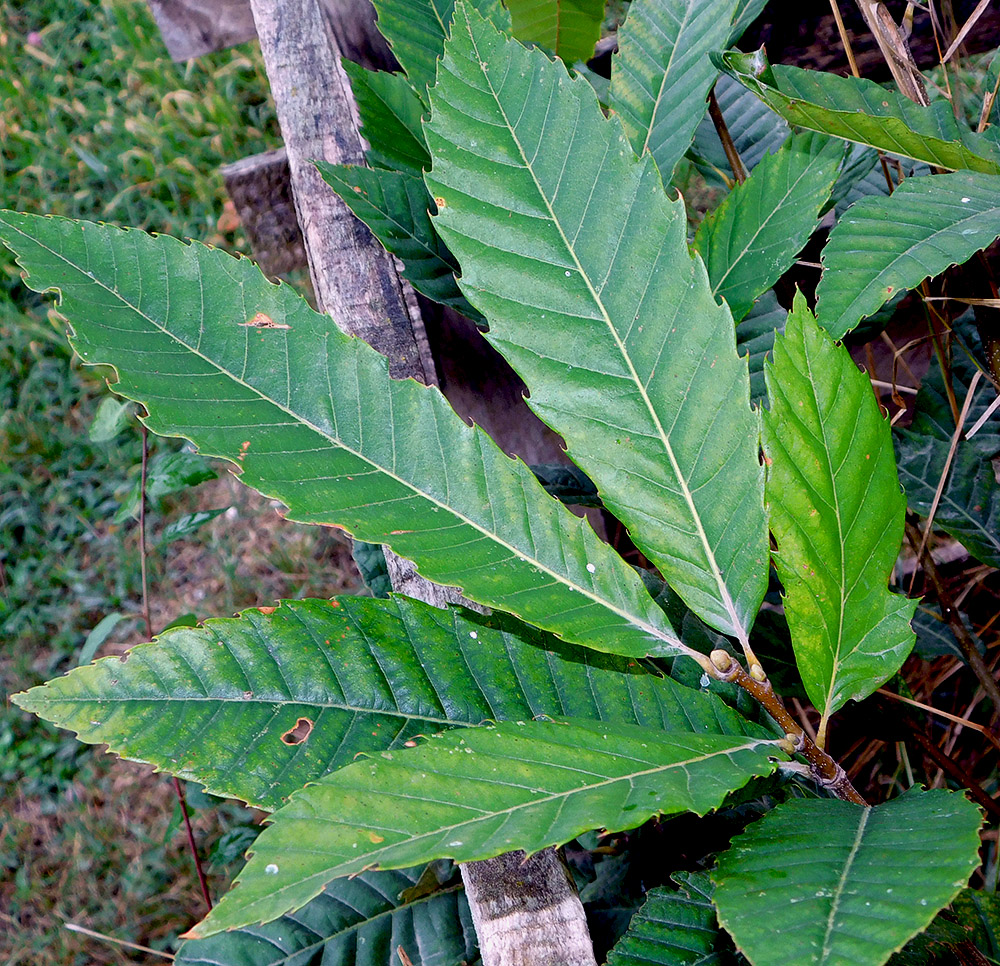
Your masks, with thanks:
<instances>
[{"instance_id":1,"label":"dark bluish-green shaded leaf crossed by a thin brown stem","mask_svg":"<svg viewBox=\"0 0 1000 966\"><path fill-rule=\"evenodd\" d=\"M792 133L782 117L728 74L720 74L716 80L715 97L747 171L753 171L762 158L777 151ZM723 183L720 175L725 175L732 184L729 159L708 115L698 125L689 155L710 183Z\"/></svg>"}]
</instances>

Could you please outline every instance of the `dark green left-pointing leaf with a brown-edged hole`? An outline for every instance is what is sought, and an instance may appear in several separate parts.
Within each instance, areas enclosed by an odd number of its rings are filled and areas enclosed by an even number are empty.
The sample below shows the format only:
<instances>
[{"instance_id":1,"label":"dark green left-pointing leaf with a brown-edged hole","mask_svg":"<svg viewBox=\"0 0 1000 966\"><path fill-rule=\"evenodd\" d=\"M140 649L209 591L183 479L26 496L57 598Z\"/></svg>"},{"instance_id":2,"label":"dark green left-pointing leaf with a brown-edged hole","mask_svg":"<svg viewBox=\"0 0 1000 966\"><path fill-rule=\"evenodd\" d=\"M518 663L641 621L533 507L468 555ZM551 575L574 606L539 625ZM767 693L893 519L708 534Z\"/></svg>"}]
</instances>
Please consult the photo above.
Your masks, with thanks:
<instances>
[{"instance_id":1,"label":"dark green left-pointing leaf with a brown-edged hole","mask_svg":"<svg viewBox=\"0 0 1000 966\"><path fill-rule=\"evenodd\" d=\"M266 810L358 752L485 720L763 733L626 658L402 597L284 601L209 620L14 700L81 741Z\"/></svg>"}]
</instances>

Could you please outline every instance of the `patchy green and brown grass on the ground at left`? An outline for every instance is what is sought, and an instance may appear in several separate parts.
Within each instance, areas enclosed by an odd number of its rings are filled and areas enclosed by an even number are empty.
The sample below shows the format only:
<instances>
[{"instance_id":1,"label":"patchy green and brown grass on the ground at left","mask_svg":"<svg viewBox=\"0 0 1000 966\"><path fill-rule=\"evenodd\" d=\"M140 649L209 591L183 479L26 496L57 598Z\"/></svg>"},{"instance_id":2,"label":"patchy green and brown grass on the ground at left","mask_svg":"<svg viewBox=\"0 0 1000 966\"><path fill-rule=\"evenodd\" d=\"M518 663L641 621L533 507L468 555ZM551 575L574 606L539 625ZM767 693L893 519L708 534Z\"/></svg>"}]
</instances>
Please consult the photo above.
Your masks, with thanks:
<instances>
[{"instance_id":1,"label":"patchy green and brown grass on the ground at left","mask_svg":"<svg viewBox=\"0 0 1000 966\"><path fill-rule=\"evenodd\" d=\"M256 44L178 65L143 0L0 6L2 207L245 252L217 169L279 143ZM170 783L104 758L6 700L77 663L107 614L125 619L100 653L145 637L136 526L114 521L141 439L133 421L109 442L90 442L106 395L100 374L73 360L58 315L0 254L3 966L145 961L63 922L170 949L203 912ZM178 444L153 440L151 448ZM209 508L228 509L150 554L155 629L184 614L224 615L355 586L341 541L283 524L224 471L155 505L150 543L170 521ZM202 804L196 826L207 855L250 817L234 805ZM220 866L216 892L233 871Z\"/></svg>"}]
</instances>

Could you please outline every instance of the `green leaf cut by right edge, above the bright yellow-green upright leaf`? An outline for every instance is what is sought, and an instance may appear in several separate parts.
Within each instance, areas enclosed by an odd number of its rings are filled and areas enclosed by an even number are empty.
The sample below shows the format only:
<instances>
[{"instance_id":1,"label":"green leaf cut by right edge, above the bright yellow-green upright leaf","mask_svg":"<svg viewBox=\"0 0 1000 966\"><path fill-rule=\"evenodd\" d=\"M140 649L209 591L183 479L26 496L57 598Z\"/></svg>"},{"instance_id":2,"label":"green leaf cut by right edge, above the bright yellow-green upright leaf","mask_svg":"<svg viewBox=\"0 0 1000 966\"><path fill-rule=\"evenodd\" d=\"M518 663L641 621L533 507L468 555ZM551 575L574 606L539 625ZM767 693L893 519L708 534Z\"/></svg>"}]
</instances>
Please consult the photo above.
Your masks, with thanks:
<instances>
[{"instance_id":1,"label":"green leaf cut by right edge, above the bright yellow-green upright leaf","mask_svg":"<svg viewBox=\"0 0 1000 966\"><path fill-rule=\"evenodd\" d=\"M844 212L823 249L816 317L835 339L892 296L1000 238L1000 177L907 178Z\"/></svg>"}]
</instances>

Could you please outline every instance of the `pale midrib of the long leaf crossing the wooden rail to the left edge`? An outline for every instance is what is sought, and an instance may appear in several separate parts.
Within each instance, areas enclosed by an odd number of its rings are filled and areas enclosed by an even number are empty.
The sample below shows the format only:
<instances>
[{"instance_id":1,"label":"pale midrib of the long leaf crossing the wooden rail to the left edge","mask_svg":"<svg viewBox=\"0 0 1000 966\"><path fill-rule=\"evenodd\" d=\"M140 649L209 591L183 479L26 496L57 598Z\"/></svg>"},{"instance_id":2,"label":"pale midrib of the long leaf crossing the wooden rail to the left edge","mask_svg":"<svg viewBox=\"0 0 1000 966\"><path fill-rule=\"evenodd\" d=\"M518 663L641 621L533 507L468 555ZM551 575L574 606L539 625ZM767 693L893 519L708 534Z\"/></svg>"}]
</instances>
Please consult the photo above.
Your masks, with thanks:
<instances>
[{"instance_id":1,"label":"pale midrib of the long leaf crossing the wooden rail to the left edge","mask_svg":"<svg viewBox=\"0 0 1000 966\"><path fill-rule=\"evenodd\" d=\"M88 274L88 273L84 272L83 269L80 268L80 266L75 265L68 258L66 258L64 255L62 255L62 253L56 252L55 250L53 250L52 248L50 248L48 245L44 244L43 242L38 241L37 239L34 239L31 236L27 235L24 231L22 231L16 225L10 225L10 223L8 222L8 226L13 231L16 231L19 235L21 235L22 237L26 238L30 243L38 245L44 251L49 252L49 254L51 254L53 257L55 257L55 258L59 259L60 261L62 261L67 267L69 267L73 271L75 271L75 272L77 272L77 273L79 273L79 274L84 275L85 277L87 277L91 282L93 282L94 284L98 285L100 288L104 289L104 291L107 292L109 295L111 295L113 298L117 299L119 302L121 302L127 308L129 308L133 312L135 312L135 314L138 315L140 318L142 318L145 321L147 321L157 331L162 332L164 335L166 335L168 338L172 339L179 346L182 346L187 352L190 352L192 355L197 356L199 359L201 359L203 362L207 363L209 366L214 367L220 374L228 377L229 379L231 379L237 385L243 386L245 389L253 392L255 395L258 396L258 398L260 398L264 402L266 402L266 403L274 406L276 409L278 409L281 412L285 413L286 415L292 417L292 419L296 423L298 423L298 424L300 424L302 426L305 426L308 429L312 430L321 439L326 440L327 443L330 446L333 446L334 448L340 448L340 449L345 450L346 452L350 453L352 456L357 457L359 460L362 460L364 463L368 464L369 466L371 466L373 469L377 470L378 472L384 473L390 479L392 479L392 480L396 481L397 483L400 483L401 485L407 487L414 494L422 497L423 499L427 500L429 503L432 503L433 505L435 505L437 507L440 507L442 510L448 511L450 514L452 514L454 517L456 517L462 523L464 523L467 526L471 527L473 530L477 531L478 533L481 533L483 536L485 536L488 539L492 540L497 545L499 545L501 547L504 547L505 549L509 550L514 557L522 558L522 559L530 562L531 565L534 566L534 567L536 567L539 571L541 571L542 573L548 574L550 577L552 577L553 580L556 583L561 584L562 586L567 587L568 589L573 590L576 593L579 593L581 596L583 596L583 597L587 598L588 600L591 600L594 603L600 605L605 610L610 611L613 614L617 614L619 617L623 618L628 623L630 623L633 626L639 628L643 632L651 635L656 640L663 641L663 642L669 644L671 647L679 649L684 654L693 654L694 653L685 644L683 644L683 642L679 638L675 638L675 637L669 636L668 634L666 634L664 632L664 630L662 628L654 627L652 624L649 624L647 621L642 620L641 618L637 617L635 614L632 614L632 613L630 613L630 612L628 612L626 610L623 610L622 608L618 607L615 604L612 604L610 601L606 600L605 598L600 597L597 594L594 594L592 591L587 590L587 588L585 588L585 587L577 584L575 581L572 581L572 580L568 579L567 577L556 573L549 566L547 566L546 564L542 563L542 561L538 560L535 556L529 554L525 550L521 550L521 549L513 546L512 544L508 543L506 540L502 539L499 536L499 534L493 533L492 531L486 529L483 525L478 524L475 521L469 519L464 514L462 514L458 510L456 510L454 507L449 506L448 504L443 503L437 497L434 497L431 494L426 493L425 491L421 490L419 487L417 487L416 485L414 485L410 481L405 480L405 479L399 477L393 471L391 471L389 469L386 469L385 467L380 466L371 457L365 456L364 454L362 454L362 453L358 452L357 450L353 449L352 447L348 446L343 441L341 441L339 439L336 439L334 437L329 436L326 432L324 432L322 429L320 429L318 426L316 426L311 421L305 419L303 416L301 416L298 413L294 412L293 410L289 409L287 406L282 405L276 399L273 399L270 396L265 395L261 390L257 389L255 386L251 385L250 383L245 382L241 377L236 376L233 372L230 372L229 369L223 367L222 365L220 365L218 362L214 361L213 359L208 358L206 355L204 355L200 351L200 349L194 348L194 347L190 346L187 342L185 342L183 339L181 339L179 336L177 336L174 332L172 332L169 329L167 329L164 324L161 324L157 320L155 320L155 319L151 318L150 316L148 316L145 312L141 311L137 306L133 305L130 301L128 301L126 298L124 298L119 292L115 291L114 289L109 288L100 279L94 277L92 274ZM196 244L196 243L192 242L191 244ZM167 284L167 288L169 290L169 275L167 276L166 284ZM51 286L51 288L59 288L59 286ZM62 290L59 289L59 291L60 291L60 295L61 295L62 294ZM169 301L169 294L167 296L167 299ZM202 300L202 312L204 313L204 300ZM204 323L204 314L202 315L202 323ZM281 335L285 339L286 357L287 357L287 335L284 332L282 332ZM249 330L247 330L245 338L247 339L247 342L249 343L249 338L250 338ZM112 367L115 369L115 371L116 372L118 371L118 367L115 366L113 363L101 363L101 362L93 362L93 363L91 363L91 362L88 362L87 364L88 365L112 365ZM287 369L287 365L286 365L286 375L287 375L287 373L288 373L288 369ZM430 389L430 388L431 387L428 387L428 389ZM115 390L115 391L118 392L120 395L125 395L124 392L121 392L119 390ZM431 391L433 391L433 390L431 390ZM391 395L391 393L390 393L390 395ZM131 398L131 397L126 396L126 398ZM135 401L136 402L140 402L140 403L142 402L142 400L135 400ZM395 428L395 424L393 424L393 429L394 428ZM481 430L480 430L480 432L481 432ZM230 463L234 462L231 457L223 456L221 454L219 455L219 458L220 459L228 460Z\"/></svg>"}]
</instances>

